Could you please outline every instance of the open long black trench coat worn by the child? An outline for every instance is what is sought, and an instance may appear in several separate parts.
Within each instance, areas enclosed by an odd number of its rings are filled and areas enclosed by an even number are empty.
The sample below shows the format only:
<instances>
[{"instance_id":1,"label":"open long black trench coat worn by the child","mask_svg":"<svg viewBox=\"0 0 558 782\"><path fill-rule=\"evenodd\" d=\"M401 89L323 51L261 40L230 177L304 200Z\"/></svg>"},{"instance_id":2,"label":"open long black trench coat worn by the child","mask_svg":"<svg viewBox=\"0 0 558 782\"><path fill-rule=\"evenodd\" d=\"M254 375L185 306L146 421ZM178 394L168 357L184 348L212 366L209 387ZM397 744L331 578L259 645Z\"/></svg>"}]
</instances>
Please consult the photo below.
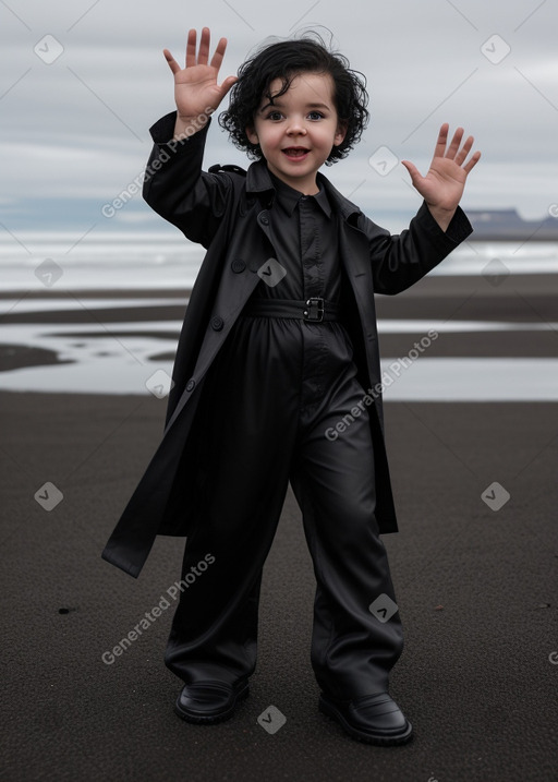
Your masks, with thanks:
<instances>
[{"instance_id":1,"label":"open long black trench coat worn by the child","mask_svg":"<svg viewBox=\"0 0 558 782\"><path fill-rule=\"evenodd\" d=\"M157 534L186 536L201 517L194 480L193 422L204 378L243 306L260 281L257 270L277 255L268 210L274 188L265 160L247 172L234 166L202 170L210 121L183 144L172 139L175 112L150 129L155 142L143 195L165 219L207 253L182 326L159 447L130 498L102 557L137 577ZM391 236L369 220L322 173L339 230L339 252L350 291L348 330L363 388L380 389L381 373L374 293L398 293L420 280L471 232L461 208L444 232L422 204L409 229ZM369 405L379 531L397 532L384 444L381 394ZM366 401L368 405L369 402ZM218 410L215 411L218 414ZM199 435L197 435L199 436Z\"/></svg>"}]
</instances>

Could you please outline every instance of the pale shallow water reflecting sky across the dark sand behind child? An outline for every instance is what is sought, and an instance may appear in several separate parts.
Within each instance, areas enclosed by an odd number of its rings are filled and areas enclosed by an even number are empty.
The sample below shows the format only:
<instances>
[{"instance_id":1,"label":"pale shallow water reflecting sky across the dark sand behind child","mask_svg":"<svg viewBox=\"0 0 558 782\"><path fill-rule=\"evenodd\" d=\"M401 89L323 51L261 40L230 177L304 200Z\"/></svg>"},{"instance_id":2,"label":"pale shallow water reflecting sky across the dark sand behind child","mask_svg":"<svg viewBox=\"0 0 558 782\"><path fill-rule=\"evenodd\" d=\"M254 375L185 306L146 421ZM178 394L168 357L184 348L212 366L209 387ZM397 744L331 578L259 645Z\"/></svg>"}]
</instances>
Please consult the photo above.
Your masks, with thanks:
<instances>
[{"instance_id":1,"label":"pale shallow water reflecting sky across the dark sand behind child","mask_svg":"<svg viewBox=\"0 0 558 782\"><path fill-rule=\"evenodd\" d=\"M131 306L135 303L128 301ZM26 306L22 303L17 311ZM2 302L4 312L12 308L13 303ZM97 308L101 313L99 302ZM40 365L22 366L22 361L17 369L0 371L0 389L149 394L154 373L172 372L181 325L181 321L5 324L0 356L5 360L10 351L34 349ZM541 322L380 320L378 326L380 334L401 335L558 330L557 323ZM427 352L383 359L386 401L558 401L558 358L429 358ZM4 361L5 365L17 366L17 361Z\"/></svg>"}]
</instances>

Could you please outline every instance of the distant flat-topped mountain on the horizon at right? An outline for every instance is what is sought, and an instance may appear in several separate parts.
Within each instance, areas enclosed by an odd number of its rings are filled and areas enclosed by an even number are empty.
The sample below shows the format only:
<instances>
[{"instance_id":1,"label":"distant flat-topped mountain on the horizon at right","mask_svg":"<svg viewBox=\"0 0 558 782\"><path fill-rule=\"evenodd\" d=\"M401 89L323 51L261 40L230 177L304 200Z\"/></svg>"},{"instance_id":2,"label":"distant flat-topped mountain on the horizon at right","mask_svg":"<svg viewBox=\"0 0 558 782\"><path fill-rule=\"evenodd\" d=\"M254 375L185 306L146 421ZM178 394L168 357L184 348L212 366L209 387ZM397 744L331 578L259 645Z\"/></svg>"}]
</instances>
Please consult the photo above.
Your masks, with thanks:
<instances>
[{"instance_id":1,"label":"distant flat-topped mountain on the horizon at right","mask_svg":"<svg viewBox=\"0 0 558 782\"><path fill-rule=\"evenodd\" d=\"M474 228L471 239L558 241L558 206L556 208L557 217L543 220L524 220L515 209L466 209Z\"/></svg>"}]
</instances>

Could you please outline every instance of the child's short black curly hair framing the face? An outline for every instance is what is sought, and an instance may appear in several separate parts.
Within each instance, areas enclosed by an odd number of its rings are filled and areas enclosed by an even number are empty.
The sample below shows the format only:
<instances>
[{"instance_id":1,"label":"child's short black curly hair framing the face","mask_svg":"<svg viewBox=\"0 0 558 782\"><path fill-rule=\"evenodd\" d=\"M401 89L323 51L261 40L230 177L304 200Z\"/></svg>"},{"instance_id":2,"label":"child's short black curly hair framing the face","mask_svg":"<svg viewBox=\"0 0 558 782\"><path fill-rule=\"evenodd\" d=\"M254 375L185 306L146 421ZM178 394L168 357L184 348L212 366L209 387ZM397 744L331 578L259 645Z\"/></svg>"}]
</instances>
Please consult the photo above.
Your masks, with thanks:
<instances>
[{"instance_id":1,"label":"child's short black curly hair framing the face","mask_svg":"<svg viewBox=\"0 0 558 782\"><path fill-rule=\"evenodd\" d=\"M347 128L343 141L332 147L326 165L331 166L347 157L360 141L369 118L366 110L366 77L350 69L343 55L329 50L319 34L311 31L302 38L264 44L239 69L239 80L232 86L229 108L219 115L218 122L229 132L234 146L245 151L251 159L260 160L263 157L259 144L253 144L245 130L254 125L254 115L262 99L265 97L272 104L274 98L284 95L292 80L303 72L331 75L339 122ZM282 87L271 97L270 84L275 79L282 80Z\"/></svg>"}]
</instances>

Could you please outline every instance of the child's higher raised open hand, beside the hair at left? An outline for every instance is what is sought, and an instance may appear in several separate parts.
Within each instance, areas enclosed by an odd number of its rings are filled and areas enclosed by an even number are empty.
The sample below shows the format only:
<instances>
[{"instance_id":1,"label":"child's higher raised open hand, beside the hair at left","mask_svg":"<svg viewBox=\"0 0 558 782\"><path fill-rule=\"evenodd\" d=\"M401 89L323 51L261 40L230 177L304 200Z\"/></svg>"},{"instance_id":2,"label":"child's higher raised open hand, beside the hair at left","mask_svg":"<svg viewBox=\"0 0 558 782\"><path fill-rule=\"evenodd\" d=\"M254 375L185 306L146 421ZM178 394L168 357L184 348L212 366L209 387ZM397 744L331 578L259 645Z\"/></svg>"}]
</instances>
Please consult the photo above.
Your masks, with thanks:
<instances>
[{"instance_id":1,"label":"child's higher raised open hand, beside the hair at left","mask_svg":"<svg viewBox=\"0 0 558 782\"><path fill-rule=\"evenodd\" d=\"M225 95L238 81L236 76L227 76L222 84L217 84L217 75L226 49L227 38L220 38L211 62L207 64L209 57L209 27L204 27L197 58L196 31L189 31L186 67L184 69L181 70L168 49L162 50L165 59L174 74L174 100L177 101L178 111L175 136L179 134L177 131L183 131L194 120L196 120L197 128L205 124L207 109L211 108L215 111Z\"/></svg>"}]
</instances>

